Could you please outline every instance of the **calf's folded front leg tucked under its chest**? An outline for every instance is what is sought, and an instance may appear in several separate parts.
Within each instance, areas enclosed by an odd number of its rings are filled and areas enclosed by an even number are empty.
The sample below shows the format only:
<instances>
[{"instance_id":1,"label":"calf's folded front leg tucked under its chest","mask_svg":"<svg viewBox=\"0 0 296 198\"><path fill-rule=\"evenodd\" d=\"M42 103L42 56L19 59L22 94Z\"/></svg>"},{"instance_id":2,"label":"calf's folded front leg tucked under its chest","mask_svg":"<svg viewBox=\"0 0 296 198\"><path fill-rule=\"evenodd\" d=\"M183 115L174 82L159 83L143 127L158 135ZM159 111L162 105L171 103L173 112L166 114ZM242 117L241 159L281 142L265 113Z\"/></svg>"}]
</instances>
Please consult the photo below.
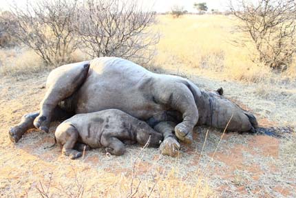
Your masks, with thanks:
<instances>
[{"instance_id":1,"label":"calf's folded front leg tucked under its chest","mask_svg":"<svg viewBox=\"0 0 296 198\"><path fill-rule=\"evenodd\" d=\"M112 155L123 155L125 153L125 144L117 137L109 137L108 133L102 135L101 143L106 147L106 152Z\"/></svg>"}]
</instances>

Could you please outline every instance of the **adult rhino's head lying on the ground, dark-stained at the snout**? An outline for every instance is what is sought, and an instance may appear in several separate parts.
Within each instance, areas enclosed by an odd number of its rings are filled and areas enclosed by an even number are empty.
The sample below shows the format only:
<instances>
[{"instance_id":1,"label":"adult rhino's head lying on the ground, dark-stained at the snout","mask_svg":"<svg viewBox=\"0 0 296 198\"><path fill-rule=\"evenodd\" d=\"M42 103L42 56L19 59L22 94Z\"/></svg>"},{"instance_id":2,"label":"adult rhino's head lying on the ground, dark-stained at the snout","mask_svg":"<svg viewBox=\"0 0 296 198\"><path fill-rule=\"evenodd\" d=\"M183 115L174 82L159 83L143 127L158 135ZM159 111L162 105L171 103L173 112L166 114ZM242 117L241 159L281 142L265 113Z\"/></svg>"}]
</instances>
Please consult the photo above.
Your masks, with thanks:
<instances>
[{"instance_id":1,"label":"adult rhino's head lying on the ground, dark-stained at the snout","mask_svg":"<svg viewBox=\"0 0 296 198\"><path fill-rule=\"evenodd\" d=\"M202 91L202 98L197 103L200 112L198 125L224 129L229 123L227 130L255 132L257 128L255 116L226 99L223 92L222 88L212 92Z\"/></svg>"}]
</instances>

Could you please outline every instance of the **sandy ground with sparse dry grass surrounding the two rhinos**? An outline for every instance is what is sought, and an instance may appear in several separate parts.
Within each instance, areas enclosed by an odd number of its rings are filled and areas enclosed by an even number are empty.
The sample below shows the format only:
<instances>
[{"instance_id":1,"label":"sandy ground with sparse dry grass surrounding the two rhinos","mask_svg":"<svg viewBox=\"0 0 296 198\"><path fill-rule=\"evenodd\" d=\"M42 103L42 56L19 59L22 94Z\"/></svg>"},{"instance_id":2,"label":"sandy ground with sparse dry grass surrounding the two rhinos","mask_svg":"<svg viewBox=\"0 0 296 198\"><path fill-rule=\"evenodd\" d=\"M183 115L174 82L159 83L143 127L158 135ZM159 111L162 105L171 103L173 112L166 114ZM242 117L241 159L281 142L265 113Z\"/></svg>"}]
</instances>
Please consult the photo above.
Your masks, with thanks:
<instances>
[{"instance_id":1,"label":"sandy ground with sparse dry grass surrounding the two rhinos","mask_svg":"<svg viewBox=\"0 0 296 198\"><path fill-rule=\"evenodd\" d=\"M127 197L124 189L129 188L130 180L125 177L133 175L133 161L140 146L127 146L126 154L121 157L110 157L102 149L96 149L72 161L61 155L57 146L48 148L54 143L57 123L52 124L49 134L33 130L25 133L17 144L8 139L10 126L18 123L26 112L38 110L47 74L0 79L0 197L41 197L37 188L40 189L41 184L45 188L50 178L53 197L61 197L63 193L75 197L80 184L84 185L84 197ZM145 149L135 177L153 180L160 177L157 172L165 174L173 168L182 184L189 186L184 187L185 190L198 188L198 181L202 180L203 187L207 183L214 191L215 195L211 196L296 197L296 135L293 128L285 128L296 126L295 83L246 85L196 74L193 71L187 77L200 88L212 90L222 86L226 97L255 112L260 125L275 127L273 132L280 137L237 132L222 137L221 131L198 127L194 143L183 145L178 158L159 155L158 149ZM114 178L118 183L114 183ZM117 194L109 194L111 191L107 189L111 188ZM151 190L149 184L142 183L140 188L147 193ZM151 197L160 197L166 190L157 185ZM162 197L169 197L168 193L165 195ZM187 195L193 196L191 191L177 189L171 197ZM194 196L202 197L201 194Z\"/></svg>"}]
</instances>

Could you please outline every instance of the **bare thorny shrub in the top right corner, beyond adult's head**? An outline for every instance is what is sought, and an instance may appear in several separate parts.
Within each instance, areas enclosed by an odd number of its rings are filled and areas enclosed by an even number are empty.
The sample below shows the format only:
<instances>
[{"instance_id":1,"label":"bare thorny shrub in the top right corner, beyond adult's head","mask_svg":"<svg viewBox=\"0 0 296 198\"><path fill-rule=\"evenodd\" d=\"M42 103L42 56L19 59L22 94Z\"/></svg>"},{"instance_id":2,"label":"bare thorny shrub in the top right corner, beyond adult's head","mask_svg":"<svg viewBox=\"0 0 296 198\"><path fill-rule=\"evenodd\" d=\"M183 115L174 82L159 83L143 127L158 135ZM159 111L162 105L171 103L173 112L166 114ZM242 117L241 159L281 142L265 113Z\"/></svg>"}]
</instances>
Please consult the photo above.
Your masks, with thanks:
<instances>
[{"instance_id":1,"label":"bare thorny shrub in the top right corner, beyond adult's head","mask_svg":"<svg viewBox=\"0 0 296 198\"><path fill-rule=\"evenodd\" d=\"M283 70L296 52L296 4L293 0L237 0L230 3L232 14L240 20L237 30L246 35L237 42L253 43L254 61Z\"/></svg>"}]
</instances>

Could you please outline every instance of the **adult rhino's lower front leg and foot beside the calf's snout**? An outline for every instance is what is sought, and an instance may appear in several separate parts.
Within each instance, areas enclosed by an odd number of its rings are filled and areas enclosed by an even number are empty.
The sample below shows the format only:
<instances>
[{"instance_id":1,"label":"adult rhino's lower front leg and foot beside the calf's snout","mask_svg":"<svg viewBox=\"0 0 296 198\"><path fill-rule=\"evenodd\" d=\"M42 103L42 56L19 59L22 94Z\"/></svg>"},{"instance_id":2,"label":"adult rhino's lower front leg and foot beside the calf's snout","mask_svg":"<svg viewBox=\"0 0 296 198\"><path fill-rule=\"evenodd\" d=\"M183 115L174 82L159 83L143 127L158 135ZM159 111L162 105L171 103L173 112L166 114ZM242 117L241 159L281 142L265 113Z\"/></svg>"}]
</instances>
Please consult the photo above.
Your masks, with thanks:
<instances>
[{"instance_id":1,"label":"adult rhino's lower front leg and foot beside the calf's snout","mask_svg":"<svg viewBox=\"0 0 296 198\"><path fill-rule=\"evenodd\" d=\"M164 137L164 140L160 143L160 152L162 155L178 156L181 146L176 135L173 134L175 126L176 123L171 121L162 121L154 126L154 130L162 133Z\"/></svg>"}]
</instances>

